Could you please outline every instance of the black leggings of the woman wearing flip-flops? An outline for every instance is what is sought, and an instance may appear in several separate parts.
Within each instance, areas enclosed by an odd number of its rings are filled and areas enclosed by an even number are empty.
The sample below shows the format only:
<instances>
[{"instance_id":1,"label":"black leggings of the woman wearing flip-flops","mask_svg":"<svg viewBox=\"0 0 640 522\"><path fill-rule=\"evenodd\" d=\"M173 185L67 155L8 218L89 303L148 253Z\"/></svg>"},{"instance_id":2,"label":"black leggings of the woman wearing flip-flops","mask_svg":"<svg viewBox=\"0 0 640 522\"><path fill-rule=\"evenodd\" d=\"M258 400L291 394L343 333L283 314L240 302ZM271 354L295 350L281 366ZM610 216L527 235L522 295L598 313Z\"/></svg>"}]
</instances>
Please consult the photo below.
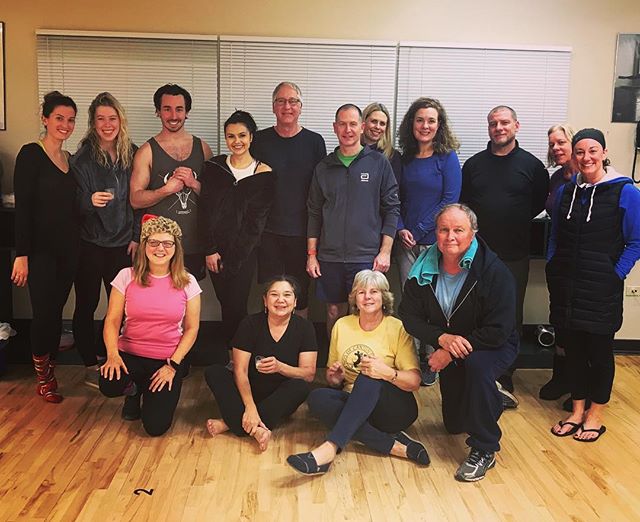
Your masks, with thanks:
<instances>
[{"instance_id":1,"label":"black leggings of the woman wearing flip-flops","mask_svg":"<svg viewBox=\"0 0 640 522\"><path fill-rule=\"evenodd\" d=\"M615 374L613 336L562 330L573 400L588 397L597 404L609 402Z\"/></svg>"}]
</instances>

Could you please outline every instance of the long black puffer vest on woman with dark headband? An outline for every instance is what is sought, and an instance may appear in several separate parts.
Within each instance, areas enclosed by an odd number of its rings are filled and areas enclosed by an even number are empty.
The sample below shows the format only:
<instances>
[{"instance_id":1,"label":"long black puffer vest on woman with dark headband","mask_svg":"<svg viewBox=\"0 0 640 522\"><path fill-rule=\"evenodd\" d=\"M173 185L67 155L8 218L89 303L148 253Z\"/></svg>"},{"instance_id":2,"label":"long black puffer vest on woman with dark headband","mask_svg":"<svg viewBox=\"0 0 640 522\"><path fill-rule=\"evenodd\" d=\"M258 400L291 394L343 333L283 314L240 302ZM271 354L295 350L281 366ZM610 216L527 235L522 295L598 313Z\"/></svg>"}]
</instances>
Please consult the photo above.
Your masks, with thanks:
<instances>
[{"instance_id":1,"label":"long black puffer vest on woman with dark headband","mask_svg":"<svg viewBox=\"0 0 640 522\"><path fill-rule=\"evenodd\" d=\"M546 268L550 320L556 327L611 334L622 326L623 281L614 267L624 249L624 185L564 187L553 216L556 250Z\"/></svg>"}]
</instances>

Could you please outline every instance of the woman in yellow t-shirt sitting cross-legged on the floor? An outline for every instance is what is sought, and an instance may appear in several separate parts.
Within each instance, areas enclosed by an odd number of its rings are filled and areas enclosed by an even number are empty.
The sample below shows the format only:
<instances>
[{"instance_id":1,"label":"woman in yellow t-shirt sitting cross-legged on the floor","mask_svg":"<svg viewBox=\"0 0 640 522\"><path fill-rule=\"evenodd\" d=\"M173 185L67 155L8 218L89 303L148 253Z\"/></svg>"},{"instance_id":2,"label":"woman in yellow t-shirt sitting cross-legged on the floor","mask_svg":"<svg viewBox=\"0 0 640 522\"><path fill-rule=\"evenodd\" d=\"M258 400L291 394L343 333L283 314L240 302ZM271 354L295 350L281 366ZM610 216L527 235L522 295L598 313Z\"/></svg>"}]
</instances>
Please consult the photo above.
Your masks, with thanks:
<instances>
[{"instance_id":1,"label":"woman in yellow t-shirt sitting cross-legged on the floor","mask_svg":"<svg viewBox=\"0 0 640 522\"><path fill-rule=\"evenodd\" d=\"M425 447L403 431L418 417L412 392L420 387L420 367L411 337L391 317L393 294L384 274L358 272L349 306L351 315L339 319L331 333L331 388L314 390L307 399L312 415L331 431L320 446L287 462L305 475L326 473L355 439L382 454L428 465Z\"/></svg>"}]
</instances>

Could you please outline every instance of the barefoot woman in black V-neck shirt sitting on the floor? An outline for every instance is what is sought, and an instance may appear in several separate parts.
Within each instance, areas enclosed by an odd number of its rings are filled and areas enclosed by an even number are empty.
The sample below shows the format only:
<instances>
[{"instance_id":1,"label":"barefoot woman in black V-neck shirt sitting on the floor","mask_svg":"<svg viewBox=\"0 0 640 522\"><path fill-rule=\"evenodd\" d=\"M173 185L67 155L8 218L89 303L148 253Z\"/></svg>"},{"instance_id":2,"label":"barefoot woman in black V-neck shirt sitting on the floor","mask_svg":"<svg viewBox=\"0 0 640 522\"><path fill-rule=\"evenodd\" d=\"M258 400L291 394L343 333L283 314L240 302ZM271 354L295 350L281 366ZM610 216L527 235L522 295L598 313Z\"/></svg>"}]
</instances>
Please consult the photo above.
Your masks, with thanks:
<instances>
[{"instance_id":1,"label":"barefoot woman in black V-neck shirt sitting on the floor","mask_svg":"<svg viewBox=\"0 0 640 522\"><path fill-rule=\"evenodd\" d=\"M207 421L209 433L251 435L261 451L309 395L318 351L313 324L294 315L295 280L280 276L265 288L264 312L243 319L233 338L233 373L217 364L205 371L222 415Z\"/></svg>"}]
</instances>

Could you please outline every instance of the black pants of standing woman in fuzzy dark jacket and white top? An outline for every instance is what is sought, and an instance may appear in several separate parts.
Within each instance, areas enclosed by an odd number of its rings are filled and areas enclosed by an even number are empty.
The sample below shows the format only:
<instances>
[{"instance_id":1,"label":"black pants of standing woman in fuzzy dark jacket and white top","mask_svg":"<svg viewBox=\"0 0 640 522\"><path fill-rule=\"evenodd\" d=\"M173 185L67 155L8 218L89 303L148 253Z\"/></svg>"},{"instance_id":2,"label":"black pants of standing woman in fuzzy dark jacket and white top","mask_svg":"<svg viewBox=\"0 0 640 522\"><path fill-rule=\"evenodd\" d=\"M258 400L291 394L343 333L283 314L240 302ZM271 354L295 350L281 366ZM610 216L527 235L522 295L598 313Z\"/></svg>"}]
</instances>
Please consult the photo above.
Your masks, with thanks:
<instances>
[{"instance_id":1,"label":"black pants of standing woman in fuzzy dark jacket and white top","mask_svg":"<svg viewBox=\"0 0 640 522\"><path fill-rule=\"evenodd\" d=\"M224 259L222 260L224 263ZM233 275L209 272L222 311L222 335L228 349L240 321L247 316L247 301L256 269L255 250Z\"/></svg>"}]
</instances>

